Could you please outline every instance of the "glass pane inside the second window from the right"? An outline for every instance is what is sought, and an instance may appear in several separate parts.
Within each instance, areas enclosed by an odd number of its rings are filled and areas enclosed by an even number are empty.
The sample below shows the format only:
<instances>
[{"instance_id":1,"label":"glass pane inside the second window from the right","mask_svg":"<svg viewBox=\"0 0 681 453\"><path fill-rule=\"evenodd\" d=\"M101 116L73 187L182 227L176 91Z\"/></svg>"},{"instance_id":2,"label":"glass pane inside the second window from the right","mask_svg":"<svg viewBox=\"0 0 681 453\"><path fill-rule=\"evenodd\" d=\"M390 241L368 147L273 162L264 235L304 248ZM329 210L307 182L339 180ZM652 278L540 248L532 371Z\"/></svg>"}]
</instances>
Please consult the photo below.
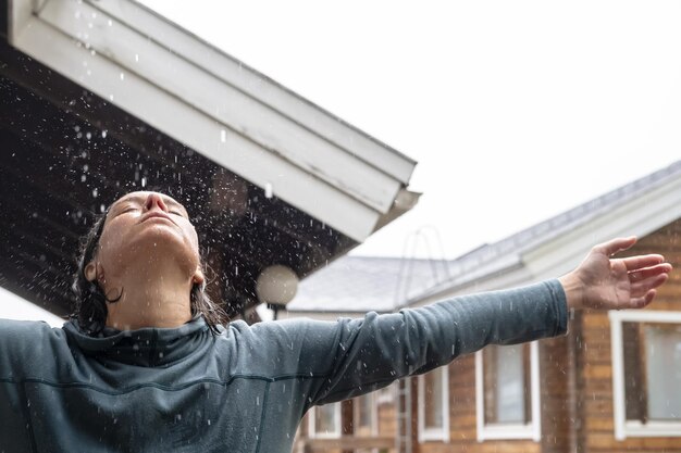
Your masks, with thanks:
<instances>
[{"instance_id":1,"label":"glass pane inside the second window from the right","mask_svg":"<svg viewBox=\"0 0 681 453\"><path fill-rule=\"evenodd\" d=\"M529 350L529 344L483 350L485 423L528 421Z\"/></svg>"}]
</instances>

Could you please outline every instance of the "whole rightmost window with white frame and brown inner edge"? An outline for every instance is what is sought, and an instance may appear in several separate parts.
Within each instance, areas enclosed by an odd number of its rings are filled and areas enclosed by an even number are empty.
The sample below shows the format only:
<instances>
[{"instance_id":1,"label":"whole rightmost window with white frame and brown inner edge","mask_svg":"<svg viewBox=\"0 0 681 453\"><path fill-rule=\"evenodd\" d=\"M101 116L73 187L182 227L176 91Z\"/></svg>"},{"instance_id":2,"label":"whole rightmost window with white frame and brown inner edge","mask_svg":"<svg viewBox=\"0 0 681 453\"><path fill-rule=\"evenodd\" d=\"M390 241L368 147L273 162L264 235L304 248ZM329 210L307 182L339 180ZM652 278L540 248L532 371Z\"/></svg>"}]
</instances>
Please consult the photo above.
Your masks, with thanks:
<instances>
[{"instance_id":1,"label":"whole rightmost window with white frame and brown inner edge","mask_svg":"<svg viewBox=\"0 0 681 453\"><path fill-rule=\"evenodd\" d=\"M681 437L681 312L610 312L615 437Z\"/></svg>"}]
</instances>

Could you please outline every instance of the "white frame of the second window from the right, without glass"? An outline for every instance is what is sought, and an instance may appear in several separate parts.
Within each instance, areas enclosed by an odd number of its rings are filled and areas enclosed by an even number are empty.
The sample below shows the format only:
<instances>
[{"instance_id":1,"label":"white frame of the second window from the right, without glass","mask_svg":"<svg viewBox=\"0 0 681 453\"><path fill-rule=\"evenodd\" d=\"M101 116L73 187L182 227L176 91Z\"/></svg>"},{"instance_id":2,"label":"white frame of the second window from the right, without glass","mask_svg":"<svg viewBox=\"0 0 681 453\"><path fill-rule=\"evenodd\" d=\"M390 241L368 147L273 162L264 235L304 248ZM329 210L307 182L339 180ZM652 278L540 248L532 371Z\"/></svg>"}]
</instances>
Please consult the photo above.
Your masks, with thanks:
<instances>
[{"instance_id":1,"label":"white frame of the second window from the right, without glass","mask_svg":"<svg viewBox=\"0 0 681 453\"><path fill-rule=\"evenodd\" d=\"M484 404L484 365L483 352L475 353L475 419L478 442L499 439L542 440L542 405L540 401L540 345L537 341L530 343L530 398L532 420L527 424L485 424Z\"/></svg>"}]
</instances>

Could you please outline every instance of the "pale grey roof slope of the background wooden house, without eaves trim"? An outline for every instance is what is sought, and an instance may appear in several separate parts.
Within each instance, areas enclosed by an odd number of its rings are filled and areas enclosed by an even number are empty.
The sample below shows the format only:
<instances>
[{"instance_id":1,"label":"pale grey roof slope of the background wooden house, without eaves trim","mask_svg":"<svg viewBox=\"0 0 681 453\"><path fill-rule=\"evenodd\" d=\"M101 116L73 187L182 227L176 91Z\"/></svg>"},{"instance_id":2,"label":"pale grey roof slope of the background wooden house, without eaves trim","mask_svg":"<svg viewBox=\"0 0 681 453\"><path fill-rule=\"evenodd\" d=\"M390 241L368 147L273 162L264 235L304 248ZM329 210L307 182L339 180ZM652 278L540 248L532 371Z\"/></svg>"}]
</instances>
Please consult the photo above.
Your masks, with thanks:
<instances>
[{"instance_id":1,"label":"pale grey roof slope of the background wooden house, without eaves trim","mask_svg":"<svg viewBox=\"0 0 681 453\"><path fill-rule=\"evenodd\" d=\"M520 265L527 251L678 178L681 161L451 261L342 257L305 279L288 309L366 312L409 305L425 294Z\"/></svg>"}]
</instances>

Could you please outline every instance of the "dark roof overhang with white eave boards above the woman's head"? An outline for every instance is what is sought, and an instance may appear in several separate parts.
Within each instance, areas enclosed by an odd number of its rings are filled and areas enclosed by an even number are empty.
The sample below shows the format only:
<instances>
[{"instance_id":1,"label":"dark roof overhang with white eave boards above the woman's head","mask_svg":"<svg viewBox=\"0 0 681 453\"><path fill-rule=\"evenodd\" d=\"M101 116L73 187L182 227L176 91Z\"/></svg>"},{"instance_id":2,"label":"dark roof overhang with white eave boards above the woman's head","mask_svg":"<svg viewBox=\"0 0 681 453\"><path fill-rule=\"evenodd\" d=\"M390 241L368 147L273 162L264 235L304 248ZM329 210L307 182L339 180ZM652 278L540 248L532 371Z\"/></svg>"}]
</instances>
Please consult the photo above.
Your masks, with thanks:
<instances>
[{"instance_id":1,"label":"dark roof overhang with white eave boards above the woman's head","mask_svg":"<svg viewBox=\"0 0 681 453\"><path fill-rule=\"evenodd\" d=\"M138 3L0 1L0 286L64 315L119 194L183 201L233 315L411 209L416 163Z\"/></svg>"}]
</instances>

